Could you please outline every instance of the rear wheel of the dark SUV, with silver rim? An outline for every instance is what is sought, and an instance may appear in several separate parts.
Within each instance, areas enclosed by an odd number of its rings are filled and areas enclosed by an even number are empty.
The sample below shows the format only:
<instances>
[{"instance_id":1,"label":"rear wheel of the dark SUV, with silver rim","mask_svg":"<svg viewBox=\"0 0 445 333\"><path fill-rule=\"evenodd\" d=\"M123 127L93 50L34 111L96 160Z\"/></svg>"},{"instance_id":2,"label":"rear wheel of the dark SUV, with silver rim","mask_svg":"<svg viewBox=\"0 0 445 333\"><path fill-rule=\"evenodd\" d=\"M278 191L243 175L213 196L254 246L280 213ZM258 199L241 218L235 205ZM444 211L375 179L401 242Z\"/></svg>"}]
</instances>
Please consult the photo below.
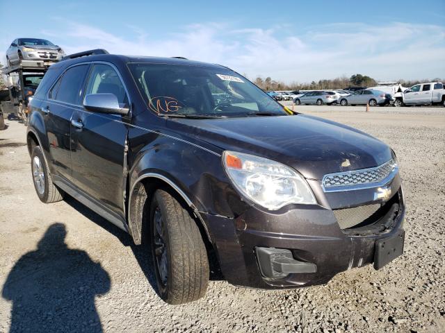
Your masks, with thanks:
<instances>
[{"instance_id":1,"label":"rear wheel of the dark SUV, with silver rim","mask_svg":"<svg viewBox=\"0 0 445 333\"><path fill-rule=\"evenodd\" d=\"M35 146L31 153L31 174L35 192L42 203L56 203L63 200L63 191L53 184L40 146Z\"/></svg>"}]
</instances>

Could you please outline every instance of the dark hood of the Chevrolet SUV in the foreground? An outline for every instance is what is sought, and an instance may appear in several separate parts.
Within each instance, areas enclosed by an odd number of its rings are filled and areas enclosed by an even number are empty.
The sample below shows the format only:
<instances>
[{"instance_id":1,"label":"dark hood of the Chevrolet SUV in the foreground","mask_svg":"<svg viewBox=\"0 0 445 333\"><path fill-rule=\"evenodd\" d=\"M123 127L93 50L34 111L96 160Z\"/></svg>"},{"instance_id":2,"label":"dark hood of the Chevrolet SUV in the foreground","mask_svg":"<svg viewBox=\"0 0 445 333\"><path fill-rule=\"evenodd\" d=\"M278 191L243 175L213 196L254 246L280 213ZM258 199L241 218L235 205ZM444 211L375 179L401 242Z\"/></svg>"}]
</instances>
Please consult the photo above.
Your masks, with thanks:
<instances>
[{"instance_id":1,"label":"dark hood of the Chevrolet SUV in the foreground","mask_svg":"<svg viewBox=\"0 0 445 333\"><path fill-rule=\"evenodd\" d=\"M262 156L290 165L305 178L376 167L391 159L378 139L348 126L298 114L278 117L172 119L170 128L223 150Z\"/></svg>"}]
</instances>

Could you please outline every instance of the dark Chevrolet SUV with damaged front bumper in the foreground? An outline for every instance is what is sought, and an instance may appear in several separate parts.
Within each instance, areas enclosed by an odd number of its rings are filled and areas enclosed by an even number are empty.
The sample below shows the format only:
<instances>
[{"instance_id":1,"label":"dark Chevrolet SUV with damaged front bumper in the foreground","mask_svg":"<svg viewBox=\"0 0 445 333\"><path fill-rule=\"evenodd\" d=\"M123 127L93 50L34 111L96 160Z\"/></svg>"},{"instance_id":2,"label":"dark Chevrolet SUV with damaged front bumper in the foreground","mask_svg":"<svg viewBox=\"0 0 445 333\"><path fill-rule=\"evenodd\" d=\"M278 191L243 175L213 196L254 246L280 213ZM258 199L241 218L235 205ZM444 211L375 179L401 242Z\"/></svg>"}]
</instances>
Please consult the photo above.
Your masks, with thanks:
<instances>
[{"instance_id":1,"label":"dark Chevrolet SUV with damaged front bumper in the foreground","mask_svg":"<svg viewBox=\"0 0 445 333\"><path fill-rule=\"evenodd\" d=\"M165 302L204 296L209 258L229 283L283 289L403 253L391 148L227 67L86 51L51 65L30 105L38 198L69 194L147 244Z\"/></svg>"}]
</instances>

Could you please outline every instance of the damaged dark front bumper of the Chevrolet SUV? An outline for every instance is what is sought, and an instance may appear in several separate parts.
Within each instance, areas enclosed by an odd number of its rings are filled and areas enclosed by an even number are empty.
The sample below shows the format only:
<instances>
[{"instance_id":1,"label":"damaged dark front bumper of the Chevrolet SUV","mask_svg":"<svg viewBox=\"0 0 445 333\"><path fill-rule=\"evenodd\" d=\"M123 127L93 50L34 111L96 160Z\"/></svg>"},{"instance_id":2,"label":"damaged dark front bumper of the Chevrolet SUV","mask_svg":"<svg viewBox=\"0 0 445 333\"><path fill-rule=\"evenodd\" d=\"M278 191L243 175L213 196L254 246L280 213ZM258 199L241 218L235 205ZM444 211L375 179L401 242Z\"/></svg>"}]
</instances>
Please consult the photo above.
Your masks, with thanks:
<instances>
[{"instance_id":1,"label":"damaged dark front bumper of the Chevrolet SUV","mask_svg":"<svg viewBox=\"0 0 445 333\"><path fill-rule=\"evenodd\" d=\"M394 196L382 204L375 221L346 230L339 228L333 210L321 205L295 205L273 213L250 207L236 219L202 217L229 283L262 289L307 287L350 268L372 263L381 268L403 253L405 203L398 176L392 186ZM347 195L357 200L357 193Z\"/></svg>"}]
</instances>

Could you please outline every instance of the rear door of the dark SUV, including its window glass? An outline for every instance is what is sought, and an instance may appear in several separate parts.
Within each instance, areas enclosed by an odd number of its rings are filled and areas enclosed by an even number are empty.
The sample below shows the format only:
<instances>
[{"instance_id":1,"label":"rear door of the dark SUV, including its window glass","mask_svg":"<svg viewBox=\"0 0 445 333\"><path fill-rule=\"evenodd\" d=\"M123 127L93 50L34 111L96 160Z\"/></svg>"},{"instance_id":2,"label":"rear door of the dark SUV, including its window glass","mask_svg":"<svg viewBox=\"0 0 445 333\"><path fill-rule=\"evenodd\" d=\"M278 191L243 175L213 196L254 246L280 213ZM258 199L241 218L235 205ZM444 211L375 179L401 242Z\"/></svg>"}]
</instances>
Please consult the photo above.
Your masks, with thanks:
<instances>
[{"instance_id":1,"label":"rear door of the dark SUV, including its window glass","mask_svg":"<svg viewBox=\"0 0 445 333\"><path fill-rule=\"evenodd\" d=\"M72 179L70 130L71 118L80 108L82 86L90 65L68 68L49 89L48 98L40 105L49 141L51 173Z\"/></svg>"}]
</instances>

